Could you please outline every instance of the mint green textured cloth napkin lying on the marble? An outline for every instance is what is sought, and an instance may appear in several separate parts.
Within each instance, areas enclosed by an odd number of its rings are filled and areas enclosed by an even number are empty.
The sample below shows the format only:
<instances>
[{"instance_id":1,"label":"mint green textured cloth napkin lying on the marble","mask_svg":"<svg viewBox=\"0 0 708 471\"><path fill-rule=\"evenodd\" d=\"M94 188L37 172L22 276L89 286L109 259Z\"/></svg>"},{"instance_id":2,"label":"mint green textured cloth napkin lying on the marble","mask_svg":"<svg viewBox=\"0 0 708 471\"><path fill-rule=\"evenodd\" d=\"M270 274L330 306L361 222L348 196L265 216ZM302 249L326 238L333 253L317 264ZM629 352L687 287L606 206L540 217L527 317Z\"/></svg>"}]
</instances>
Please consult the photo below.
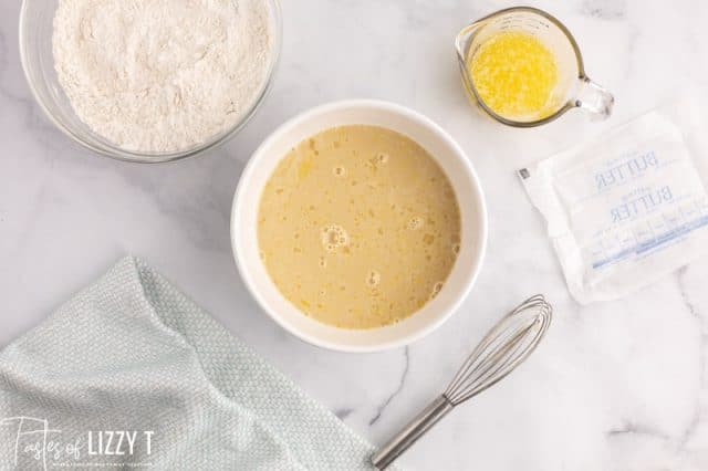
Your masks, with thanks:
<instances>
[{"instance_id":1,"label":"mint green textured cloth napkin lying on the marble","mask_svg":"<svg viewBox=\"0 0 708 471\"><path fill-rule=\"evenodd\" d=\"M133 258L0 353L0 470L366 470L372 452Z\"/></svg>"}]
</instances>

